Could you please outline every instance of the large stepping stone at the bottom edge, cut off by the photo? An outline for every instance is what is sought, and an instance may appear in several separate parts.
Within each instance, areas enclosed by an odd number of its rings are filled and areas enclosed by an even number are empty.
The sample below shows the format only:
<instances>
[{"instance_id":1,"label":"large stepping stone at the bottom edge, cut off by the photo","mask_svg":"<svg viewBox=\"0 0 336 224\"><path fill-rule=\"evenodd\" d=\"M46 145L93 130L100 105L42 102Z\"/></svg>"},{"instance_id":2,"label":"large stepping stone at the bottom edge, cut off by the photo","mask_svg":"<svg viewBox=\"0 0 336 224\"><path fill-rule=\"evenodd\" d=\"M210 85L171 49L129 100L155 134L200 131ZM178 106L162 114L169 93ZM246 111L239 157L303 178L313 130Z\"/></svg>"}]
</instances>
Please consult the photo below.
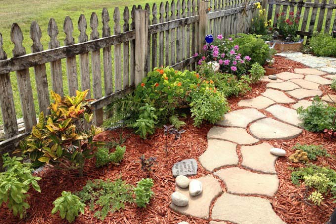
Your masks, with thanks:
<instances>
[{"instance_id":1,"label":"large stepping stone at the bottom edge, cut off by the photo","mask_svg":"<svg viewBox=\"0 0 336 224\"><path fill-rule=\"evenodd\" d=\"M218 198L211 218L237 224L286 224L273 211L267 199L228 193Z\"/></svg>"}]
</instances>

